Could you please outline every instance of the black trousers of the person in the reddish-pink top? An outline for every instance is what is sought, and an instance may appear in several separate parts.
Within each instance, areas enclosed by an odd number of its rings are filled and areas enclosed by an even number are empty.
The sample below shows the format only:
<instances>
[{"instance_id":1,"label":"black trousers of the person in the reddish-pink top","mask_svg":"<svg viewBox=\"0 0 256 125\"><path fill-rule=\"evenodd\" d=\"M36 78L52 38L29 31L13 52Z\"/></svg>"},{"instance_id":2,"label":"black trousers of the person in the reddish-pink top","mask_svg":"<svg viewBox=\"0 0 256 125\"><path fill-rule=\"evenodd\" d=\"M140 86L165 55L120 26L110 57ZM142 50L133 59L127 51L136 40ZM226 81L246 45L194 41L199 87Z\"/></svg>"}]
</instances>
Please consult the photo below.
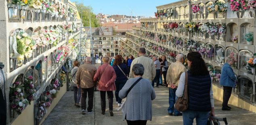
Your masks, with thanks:
<instances>
[{"instance_id":1,"label":"black trousers of the person in the reddish-pink top","mask_svg":"<svg viewBox=\"0 0 256 125\"><path fill-rule=\"evenodd\" d=\"M105 112L106 110L106 92L107 99L109 100L109 111L113 111L113 91L100 91L101 93L101 111Z\"/></svg>"}]
</instances>

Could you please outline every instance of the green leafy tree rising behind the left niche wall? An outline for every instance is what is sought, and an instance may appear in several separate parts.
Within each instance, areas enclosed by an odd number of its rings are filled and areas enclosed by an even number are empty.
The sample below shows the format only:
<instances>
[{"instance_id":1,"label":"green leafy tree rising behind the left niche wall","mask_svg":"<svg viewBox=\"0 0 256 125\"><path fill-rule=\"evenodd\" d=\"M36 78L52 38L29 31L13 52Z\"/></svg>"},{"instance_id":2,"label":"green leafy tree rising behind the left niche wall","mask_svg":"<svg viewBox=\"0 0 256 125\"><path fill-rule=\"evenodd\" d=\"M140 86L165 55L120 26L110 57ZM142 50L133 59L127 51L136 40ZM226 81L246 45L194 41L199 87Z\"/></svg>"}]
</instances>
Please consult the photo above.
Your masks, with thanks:
<instances>
[{"instance_id":1,"label":"green leafy tree rising behind the left niche wall","mask_svg":"<svg viewBox=\"0 0 256 125\"><path fill-rule=\"evenodd\" d=\"M84 27L89 27L90 26L89 13L90 13L90 16L91 16L91 27L99 27L99 21L96 18L96 15L92 12L92 7L91 6L84 6L84 4L82 4L80 2L77 2L77 1L75 3L76 3L76 7L78 9L78 13L79 13L79 15L82 19L83 24L84 24ZM90 8L90 10L85 9L85 8Z\"/></svg>"}]
</instances>

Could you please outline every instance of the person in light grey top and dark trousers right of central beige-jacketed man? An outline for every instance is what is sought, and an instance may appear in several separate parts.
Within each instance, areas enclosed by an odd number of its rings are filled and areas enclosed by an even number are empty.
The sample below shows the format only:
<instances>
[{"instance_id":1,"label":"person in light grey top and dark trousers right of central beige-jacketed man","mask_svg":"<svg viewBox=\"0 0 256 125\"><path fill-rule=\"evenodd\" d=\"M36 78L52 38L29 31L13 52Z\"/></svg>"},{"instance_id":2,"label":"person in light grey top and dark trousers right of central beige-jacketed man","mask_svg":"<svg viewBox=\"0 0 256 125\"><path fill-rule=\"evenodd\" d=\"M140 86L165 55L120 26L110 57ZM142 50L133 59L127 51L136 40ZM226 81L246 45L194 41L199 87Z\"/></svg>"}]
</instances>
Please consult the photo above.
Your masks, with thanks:
<instances>
[{"instance_id":1,"label":"person in light grey top and dark trousers right of central beige-jacketed man","mask_svg":"<svg viewBox=\"0 0 256 125\"><path fill-rule=\"evenodd\" d=\"M153 59L153 61L154 61L154 64L155 64L155 72L156 72L156 74L155 74L155 78L153 79L153 81L152 81L152 86L153 86L153 88L154 88L154 84L155 84L155 82L156 82L156 87L157 88L159 88L159 80L160 80L160 69L161 69L161 67L160 67L160 61L157 59L157 57L153 57L152 58Z\"/></svg>"}]
</instances>

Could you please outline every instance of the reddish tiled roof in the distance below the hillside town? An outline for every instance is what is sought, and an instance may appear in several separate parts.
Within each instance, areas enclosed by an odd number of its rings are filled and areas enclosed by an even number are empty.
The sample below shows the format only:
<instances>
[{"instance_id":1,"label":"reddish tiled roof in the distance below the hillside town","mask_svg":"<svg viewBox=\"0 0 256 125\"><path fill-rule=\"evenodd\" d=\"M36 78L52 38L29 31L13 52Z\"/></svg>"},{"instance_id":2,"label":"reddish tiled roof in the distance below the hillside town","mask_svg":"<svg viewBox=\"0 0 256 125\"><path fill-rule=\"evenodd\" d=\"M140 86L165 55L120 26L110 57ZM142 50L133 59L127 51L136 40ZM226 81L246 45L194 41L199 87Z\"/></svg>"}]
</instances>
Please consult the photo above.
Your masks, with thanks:
<instances>
[{"instance_id":1,"label":"reddish tiled roof in the distance below the hillside town","mask_svg":"<svg viewBox=\"0 0 256 125\"><path fill-rule=\"evenodd\" d=\"M132 31L132 27L141 27L140 23L102 23L102 27L113 27L115 31ZM117 26L117 29L116 27Z\"/></svg>"}]
</instances>

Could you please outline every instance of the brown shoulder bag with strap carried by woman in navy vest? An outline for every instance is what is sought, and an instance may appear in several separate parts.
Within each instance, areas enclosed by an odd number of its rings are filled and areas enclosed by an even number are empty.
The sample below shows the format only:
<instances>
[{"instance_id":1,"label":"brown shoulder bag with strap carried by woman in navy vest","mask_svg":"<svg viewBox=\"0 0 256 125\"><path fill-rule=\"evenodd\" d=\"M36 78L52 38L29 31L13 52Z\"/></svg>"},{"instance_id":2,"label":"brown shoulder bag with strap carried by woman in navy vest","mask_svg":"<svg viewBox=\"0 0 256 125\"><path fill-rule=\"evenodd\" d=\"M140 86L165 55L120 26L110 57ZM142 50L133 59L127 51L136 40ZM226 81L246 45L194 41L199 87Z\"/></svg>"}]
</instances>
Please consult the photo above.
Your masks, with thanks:
<instances>
[{"instance_id":1,"label":"brown shoulder bag with strap carried by woman in navy vest","mask_svg":"<svg viewBox=\"0 0 256 125\"><path fill-rule=\"evenodd\" d=\"M187 72L185 72L185 78L186 78L186 82L185 82L185 87L184 87L184 94L182 97L178 97L178 99L176 100L174 107L175 109L177 109L180 112L186 111L188 108L188 92L187 92Z\"/></svg>"}]
</instances>

